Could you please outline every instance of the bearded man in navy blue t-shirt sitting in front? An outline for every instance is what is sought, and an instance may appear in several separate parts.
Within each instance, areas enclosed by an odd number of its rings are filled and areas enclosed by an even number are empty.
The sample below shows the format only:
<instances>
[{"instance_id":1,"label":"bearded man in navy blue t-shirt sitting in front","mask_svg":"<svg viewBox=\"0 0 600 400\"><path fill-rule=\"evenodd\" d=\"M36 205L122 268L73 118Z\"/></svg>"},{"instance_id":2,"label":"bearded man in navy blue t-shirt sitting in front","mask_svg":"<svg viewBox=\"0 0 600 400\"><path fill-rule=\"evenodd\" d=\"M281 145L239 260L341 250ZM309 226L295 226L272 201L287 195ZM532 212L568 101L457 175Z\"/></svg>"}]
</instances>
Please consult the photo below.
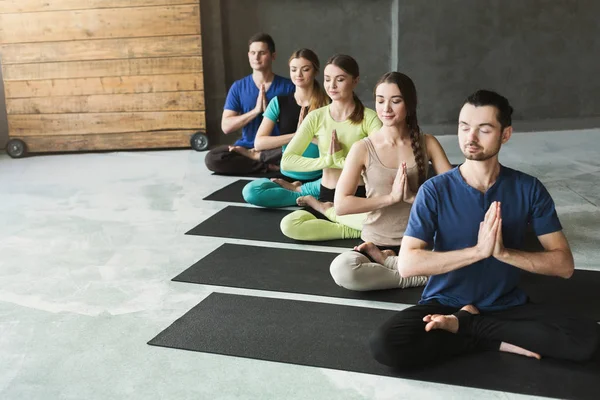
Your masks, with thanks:
<instances>
[{"instance_id":1,"label":"bearded man in navy blue t-shirt sitting in front","mask_svg":"<svg viewBox=\"0 0 600 400\"><path fill-rule=\"evenodd\" d=\"M420 187L398 255L401 276L429 281L419 305L373 335L377 361L412 368L484 350L573 361L594 353L595 321L532 304L518 287L521 271L569 278L574 262L542 183L498 162L511 114L506 98L486 90L463 105L466 160ZM523 251L528 225L543 251Z\"/></svg>"}]
</instances>

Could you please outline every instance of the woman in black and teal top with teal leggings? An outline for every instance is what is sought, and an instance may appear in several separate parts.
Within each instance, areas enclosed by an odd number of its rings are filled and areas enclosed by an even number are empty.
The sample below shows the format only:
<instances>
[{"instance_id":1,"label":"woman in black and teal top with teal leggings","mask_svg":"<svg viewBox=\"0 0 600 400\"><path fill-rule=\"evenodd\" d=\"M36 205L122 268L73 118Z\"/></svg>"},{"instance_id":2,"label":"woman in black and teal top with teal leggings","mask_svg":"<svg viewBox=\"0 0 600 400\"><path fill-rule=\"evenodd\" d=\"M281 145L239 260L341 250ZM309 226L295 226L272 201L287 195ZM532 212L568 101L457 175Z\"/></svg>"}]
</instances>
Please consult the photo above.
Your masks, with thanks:
<instances>
[{"instance_id":1,"label":"woman in black and teal top with teal leggings","mask_svg":"<svg viewBox=\"0 0 600 400\"><path fill-rule=\"evenodd\" d=\"M329 104L329 97L315 79L319 73L319 58L309 49L296 50L288 62L290 77L296 86L293 93L274 97L263 114L254 148L258 151L287 147L304 117L311 111ZM275 127L279 135L273 135ZM319 148L310 143L304 157L318 158ZM298 197L319 196L321 170L295 172L281 169L281 173L296 180L289 183L283 179L257 179L242 190L244 200L261 207L295 206ZM305 184L302 184L306 182Z\"/></svg>"}]
</instances>

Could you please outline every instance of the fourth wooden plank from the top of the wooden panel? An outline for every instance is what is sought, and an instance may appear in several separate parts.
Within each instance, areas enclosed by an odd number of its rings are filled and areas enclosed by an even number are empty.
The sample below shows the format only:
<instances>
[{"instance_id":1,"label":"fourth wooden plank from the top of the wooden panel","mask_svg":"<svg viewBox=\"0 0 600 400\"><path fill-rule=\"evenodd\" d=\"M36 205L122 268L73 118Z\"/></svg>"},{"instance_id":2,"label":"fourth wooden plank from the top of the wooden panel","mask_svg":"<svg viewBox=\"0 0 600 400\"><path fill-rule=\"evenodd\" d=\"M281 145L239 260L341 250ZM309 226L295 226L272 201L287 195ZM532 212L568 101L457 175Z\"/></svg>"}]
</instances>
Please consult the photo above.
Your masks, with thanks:
<instances>
[{"instance_id":1,"label":"fourth wooden plank from the top of the wooden panel","mask_svg":"<svg viewBox=\"0 0 600 400\"><path fill-rule=\"evenodd\" d=\"M202 72L202 57L68 61L2 66L2 74L5 82L104 76L188 74L191 72Z\"/></svg>"}]
</instances>

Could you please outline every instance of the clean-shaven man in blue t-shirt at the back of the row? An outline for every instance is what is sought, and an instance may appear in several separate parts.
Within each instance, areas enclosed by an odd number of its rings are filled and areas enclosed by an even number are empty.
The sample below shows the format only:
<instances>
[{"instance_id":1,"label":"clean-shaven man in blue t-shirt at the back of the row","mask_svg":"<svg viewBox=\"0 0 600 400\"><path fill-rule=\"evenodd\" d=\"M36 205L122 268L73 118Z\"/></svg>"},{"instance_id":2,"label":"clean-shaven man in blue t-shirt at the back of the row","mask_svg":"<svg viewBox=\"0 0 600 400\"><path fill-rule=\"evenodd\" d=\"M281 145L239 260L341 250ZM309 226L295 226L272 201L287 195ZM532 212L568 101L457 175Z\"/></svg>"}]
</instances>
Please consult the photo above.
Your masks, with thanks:
<instances>
[{"instance_id":1,"label":"clean-shaven man in blue t-shirt at the back of the row","mask_svg":"<svg viewBox=\"0 0 600 400\"><path fill-rule=\"evenodd\" d=\"M271 36L258 33L250 38L248 46L252 74L233 83L221 118L221 129L226 135L241 129L242 138L233 146L212 149L205 158L208 169L218 174L245 175L279 170L281 149L257 151L254 137L269 101L293 92L295 86L288 78L273 73L275 42ZM275 130L273 134L278 132Z\"/></svg>"}]
</instances>

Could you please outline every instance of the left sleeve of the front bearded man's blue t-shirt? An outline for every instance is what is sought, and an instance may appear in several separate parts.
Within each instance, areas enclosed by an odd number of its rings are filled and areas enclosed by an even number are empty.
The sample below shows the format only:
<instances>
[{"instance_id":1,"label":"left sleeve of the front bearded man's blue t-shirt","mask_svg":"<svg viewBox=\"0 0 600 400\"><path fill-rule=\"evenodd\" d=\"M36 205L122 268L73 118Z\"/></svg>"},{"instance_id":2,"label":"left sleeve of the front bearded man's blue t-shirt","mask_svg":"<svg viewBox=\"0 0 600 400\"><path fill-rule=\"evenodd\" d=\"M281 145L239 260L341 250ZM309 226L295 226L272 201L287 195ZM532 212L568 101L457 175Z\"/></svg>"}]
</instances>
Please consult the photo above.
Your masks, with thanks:
<instances>
[{"instance_id":1,"label":"left sleeve of the front bearded man's blue t-shirt","mask_svg":"<svg viewBox=\"0 0 600 400\"><path fill-rule=\"evenodd\" d=\"M419 188L410 210L410 217L404 236L421 239L433 244L438 226L437 194L431 182L425 182Z\"/></svg>"}]
</instances>

